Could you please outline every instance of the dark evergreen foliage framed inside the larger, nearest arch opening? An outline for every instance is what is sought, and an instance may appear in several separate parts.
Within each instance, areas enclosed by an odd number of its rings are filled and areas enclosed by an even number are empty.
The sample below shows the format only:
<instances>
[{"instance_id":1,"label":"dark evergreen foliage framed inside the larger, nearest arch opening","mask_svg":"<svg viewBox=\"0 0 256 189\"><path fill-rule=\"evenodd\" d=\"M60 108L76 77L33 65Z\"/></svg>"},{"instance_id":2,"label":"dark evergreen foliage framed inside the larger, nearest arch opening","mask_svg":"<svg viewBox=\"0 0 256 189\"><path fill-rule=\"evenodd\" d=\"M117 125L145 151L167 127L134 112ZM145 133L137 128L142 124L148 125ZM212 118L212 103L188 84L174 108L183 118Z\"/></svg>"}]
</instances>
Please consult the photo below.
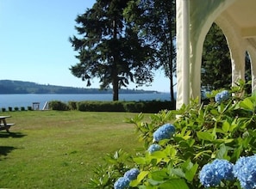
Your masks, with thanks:
<instances>
[{"instance_id":1,"label":"dark evergreen foliage framed inside the larger, nearest arch opening","mask_svg":"<svg viewBox=\"0 0 256 189\"><path fill-rule=\"evenodd\" d=\"M213 23L203 44L201 85L204 91L231 87L231 60L222 29Z\"/></svg>"}]
</instances>

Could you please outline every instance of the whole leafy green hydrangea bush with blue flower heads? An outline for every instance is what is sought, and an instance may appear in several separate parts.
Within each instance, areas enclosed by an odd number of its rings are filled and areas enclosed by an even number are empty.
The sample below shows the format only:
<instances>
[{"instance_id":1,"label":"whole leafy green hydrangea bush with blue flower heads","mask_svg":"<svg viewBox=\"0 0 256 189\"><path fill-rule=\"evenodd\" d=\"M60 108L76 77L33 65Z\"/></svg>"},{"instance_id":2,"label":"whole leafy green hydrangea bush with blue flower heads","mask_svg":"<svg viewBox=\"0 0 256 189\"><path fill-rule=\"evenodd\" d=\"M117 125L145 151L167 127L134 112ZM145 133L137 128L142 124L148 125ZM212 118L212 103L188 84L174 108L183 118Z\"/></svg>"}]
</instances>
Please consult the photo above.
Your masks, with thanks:
<instances>
[{"instance_id":1,"label":"whole leafy green hydrangea bush with blue flower heads","mask_svg":"<svg viewBox=\"0 0 256 189\"><path fill-rule=\"evenodd\" d=\"M241 85L222 91L208 94L207 104L162 110L150 122L142 113L127 119L144 149L107 155L90 188L256 188L256 94L240 95ZM117 187L129 170L136 170L133 179Z\"/></svg>"}]
</instances>

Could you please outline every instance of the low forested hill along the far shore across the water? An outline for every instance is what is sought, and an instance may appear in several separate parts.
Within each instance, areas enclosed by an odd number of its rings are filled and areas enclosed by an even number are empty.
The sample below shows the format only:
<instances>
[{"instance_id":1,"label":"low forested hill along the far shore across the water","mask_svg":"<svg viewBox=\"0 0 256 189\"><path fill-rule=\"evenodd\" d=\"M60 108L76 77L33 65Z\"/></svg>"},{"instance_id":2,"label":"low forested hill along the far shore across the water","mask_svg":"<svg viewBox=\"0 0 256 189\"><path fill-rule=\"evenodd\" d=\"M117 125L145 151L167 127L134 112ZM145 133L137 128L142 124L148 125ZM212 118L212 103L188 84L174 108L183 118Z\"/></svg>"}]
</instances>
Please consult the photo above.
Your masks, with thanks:
<instances>
[{"instance_id":1,"label":"low forested hill along the far shore across the water","mask_svg":"<svg viewBox=\"0 0 256 189\"><path fill-rule=\"evenodd\" d=\"M0 94L109 94L112 89L72 88L55 85L42 85L35 82L0 80ZM120 89L120 94L156 93L152 90Z\"/></svg>"}]
</instances>

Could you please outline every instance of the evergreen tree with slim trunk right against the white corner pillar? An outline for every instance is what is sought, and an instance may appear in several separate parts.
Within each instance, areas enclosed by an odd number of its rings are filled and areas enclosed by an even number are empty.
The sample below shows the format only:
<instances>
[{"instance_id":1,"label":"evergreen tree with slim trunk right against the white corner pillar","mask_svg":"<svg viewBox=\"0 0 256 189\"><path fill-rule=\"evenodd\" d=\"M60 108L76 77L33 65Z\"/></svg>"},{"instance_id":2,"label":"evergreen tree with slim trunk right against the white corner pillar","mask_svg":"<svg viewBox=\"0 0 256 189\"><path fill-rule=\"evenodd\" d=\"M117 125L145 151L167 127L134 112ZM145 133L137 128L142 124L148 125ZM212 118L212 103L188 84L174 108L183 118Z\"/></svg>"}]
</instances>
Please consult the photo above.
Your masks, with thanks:
<instances>
[{"instance_id":1,"label":"evergreen tree with slim trunk right against the white corner pillar","mask_svg":"<svg viewBox=\"0 0 256 189\"><path fill-rule=\"evenodd\" d=\"M137 0L132 1L126 11L129 21L140 37L146 39L155 53L152 58L170 79L171 101L174 101L173 77L176 72L176 1Z\"/></svg>"}]
</instances>

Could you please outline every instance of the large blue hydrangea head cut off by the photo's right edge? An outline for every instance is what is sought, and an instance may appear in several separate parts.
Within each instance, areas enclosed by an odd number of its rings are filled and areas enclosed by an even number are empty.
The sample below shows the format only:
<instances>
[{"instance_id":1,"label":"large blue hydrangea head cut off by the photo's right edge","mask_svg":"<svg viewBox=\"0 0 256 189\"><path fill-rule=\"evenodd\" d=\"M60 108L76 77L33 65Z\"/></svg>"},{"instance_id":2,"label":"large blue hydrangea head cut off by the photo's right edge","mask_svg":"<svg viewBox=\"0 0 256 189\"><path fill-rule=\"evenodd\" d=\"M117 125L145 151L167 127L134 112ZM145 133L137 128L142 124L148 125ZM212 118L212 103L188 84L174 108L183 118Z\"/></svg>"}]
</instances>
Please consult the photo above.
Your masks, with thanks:
<instances>
[{"instance_id":1,"label":"large blue hydrangea head cut off by the photo's right edge","mask_svg":"<svg viewBox=\"0 0 256 189\"><path fill-rule=\"evenodd\" d=\"M256 188L256 155L240 157L234 164L233 173L242 188Z\"/></svg>"}]
</instances>

